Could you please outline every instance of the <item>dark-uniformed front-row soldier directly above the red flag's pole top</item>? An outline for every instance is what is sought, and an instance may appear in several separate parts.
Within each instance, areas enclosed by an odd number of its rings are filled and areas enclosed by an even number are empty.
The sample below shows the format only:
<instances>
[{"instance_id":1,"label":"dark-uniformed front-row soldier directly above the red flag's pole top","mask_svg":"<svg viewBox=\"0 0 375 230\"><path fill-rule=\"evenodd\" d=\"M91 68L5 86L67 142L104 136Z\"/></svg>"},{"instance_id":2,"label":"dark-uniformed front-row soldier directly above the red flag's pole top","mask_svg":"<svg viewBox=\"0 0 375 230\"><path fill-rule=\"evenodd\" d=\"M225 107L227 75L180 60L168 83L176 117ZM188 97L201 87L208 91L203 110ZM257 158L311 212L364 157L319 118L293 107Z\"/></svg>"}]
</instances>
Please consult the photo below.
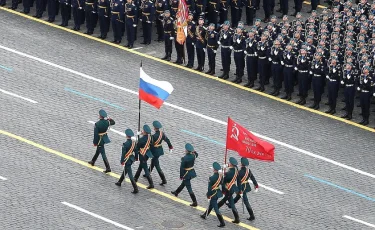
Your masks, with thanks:
<instances>
[{"instance_id":1,"label":"dark-uniformed front-row soldier directly above the red flag's pole top","mask_svg":"<svg viewBox=\"0 0 375 230\"><path fill-rule=\"evenodd\" d=\"M221 46L221 64L223 66L223 74L219 77L221 79L229 78L230 64L231 64L231 54L233 44L233 31L229 28L230 22L225 21L223 28L220 31L220 37L218 44Z\"/></svg>"}]
</instances>

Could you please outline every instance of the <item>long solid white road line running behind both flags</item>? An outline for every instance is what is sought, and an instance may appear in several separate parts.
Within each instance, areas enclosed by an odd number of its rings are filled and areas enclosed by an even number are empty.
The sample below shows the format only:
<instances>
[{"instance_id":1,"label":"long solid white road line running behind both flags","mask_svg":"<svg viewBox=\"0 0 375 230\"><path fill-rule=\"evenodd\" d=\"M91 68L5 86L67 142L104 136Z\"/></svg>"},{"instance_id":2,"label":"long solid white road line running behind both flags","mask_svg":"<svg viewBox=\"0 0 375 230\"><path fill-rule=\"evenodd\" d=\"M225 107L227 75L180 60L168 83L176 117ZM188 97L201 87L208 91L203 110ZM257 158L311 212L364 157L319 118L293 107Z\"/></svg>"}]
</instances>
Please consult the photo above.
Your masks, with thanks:
<instances>
[{"instance_id":1,"label":"long solid white road line running behind both flags","mask_svg":"<svg viewBox=\"0 0 375 230\"><path fill-rule=\"evenodd\" d=\"M15 53L15 54L18 54L20 56L23 56L23 57L27 57L27 58L30 58L32 60L35 60L35 61L38 61L38 62L41 62L41 63L44 63L46 65L49 65L49 66L53 66L53 67L56 67L58 69L61 69L61 70L64 70L64 71L67 71L67 72L70 72L70 73L73 73L73 74L76 74L78 76L81 76L83 78L86 78L88 80L92 80L92 81L95 81L95 82L99 82L103 85L107 85L107 86L110 86L112 88L115 88L115 89L119 89L119 90L122 90L122 91L125 91L125 92L128 92L128 93L131 93L131 94L135 94L135 95L138 95L138 92L136 91L133 91L133 90L130 90L130 89L127 89L125 87L121 87L121 86L118 86L118 85L115 85L113 83L110 83L110 82L107 82L107 81L104 81L104 80L101 80L101 79L98 79L98 78L94 78L94 77L91 77L87 74L84 74L84 73L81 73L81 72L78 72L78 71L75 71L75 70L72 70L72 69L69 69L69 68L66 68L66 67L63 67L63 66L60 66L60 65L57 65L55 63L52 63L52 62L49 62L49 61L46 61L46 60L43 60L41 58L38 58L38 57L34 57L32 55L29 55L29 54L25 54L25 53L22 53L20 51L17 51L17 50L14 50L14 49L11 49L11 48L8 48L8 47L5 47L5 46L2 46L0 45L0 48L3 49L3 50L7 50L9 52L12 52L12 53ZM206 120L209 120L209 121L213 121L213 122L216 122L216 123L219 123L219 124L222 124L222 125L227 125L227 123L225 121L221 121L221 120L218 120L218 119L215 119L215 118L212 118L212 117L209 117L209 116L206 116L204 114L201 114L201 113L198 113L198 112L195 112L195 111L192 111L192 110L189 110L189 109L185 109L185 108L182 108L180 106L177 106L177 105L173 105L173 104L170 104L168 102L164 102L164 105L166 106L169 106L169 107L172 107L172 108L175 108L175 109L178 109L178 110L181 110L183 112L186 112L186 113L189 113L189 114L193 114L195 116L198 116L198 117L201 117L203 119L206 119ZM270 138L270 137L266 137L266 136L263 136L263 135L260 135L260 134L257 134L257 133L254 133L254 135L258 136L259 138L262 138L264 140L267 140L267 141L270 141L270 142L273 142L275 144L278 144L278 145L281 145L283 147L286 147L286 148L289 148L289 149L292 149L292 150L295 150L297 152L300 152L302 154L305 154L307 156L310 156L310 157L314 157L314 158L317 158L317 159L320 159L322 161L325 161L325 162L328 162L328 163L331 163L333 165L336 165L336 166L339 166L341 168L345 168L347 170L350 170L352 172L356 172L358 174L362 174L364 176L368 176L368 177L371 177L371 178L374 178L375 179L375 175L374 174L371 174L371 173L368 173L368 172L365 172L365 171L362 171L360 169L356 169L356 168L353 168L351 166L348 166L348 165L345 165L345 164L342 164L340 162L337 162L337 161L334 161L332 159L329 159L329 158L326 158L326 157L323 157L323 156L319 156L317 154L314 154L312 152L309 152L309 151L306 151L306 150L303 150L303 149L300 149L298 147L295 147L295 146L292 146L292 145L289 145L287 143L284 143L284 142L281 142L281 141L277 141L273 138Z\"/></svg>"}]
</instances>

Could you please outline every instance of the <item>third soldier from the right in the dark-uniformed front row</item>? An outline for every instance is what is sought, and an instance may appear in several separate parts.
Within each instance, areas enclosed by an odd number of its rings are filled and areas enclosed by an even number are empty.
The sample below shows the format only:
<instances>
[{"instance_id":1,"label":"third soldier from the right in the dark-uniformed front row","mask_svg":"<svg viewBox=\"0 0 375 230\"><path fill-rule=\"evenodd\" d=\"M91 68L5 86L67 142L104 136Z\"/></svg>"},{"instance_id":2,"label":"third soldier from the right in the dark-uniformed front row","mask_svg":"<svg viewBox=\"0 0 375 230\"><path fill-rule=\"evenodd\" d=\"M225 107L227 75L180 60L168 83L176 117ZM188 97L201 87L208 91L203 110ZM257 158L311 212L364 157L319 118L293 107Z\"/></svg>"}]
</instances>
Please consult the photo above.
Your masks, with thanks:
<instances>
[{"instance_id":1,"label":"third soldier from the right in the dark-uniformed front row","mask_svg":"<svg viewBox=\"0 0 375 230\"><path fill-rule=\"evenodd\" d=\"M336 102L339 92L340 80L342 75L342 67L338 63L338 60L331 59L331 64L328 67L328 74L326 78L328 79L328 104L329 110L325 113L335 114L336 113Z\"/></svg>"}]
</instances>

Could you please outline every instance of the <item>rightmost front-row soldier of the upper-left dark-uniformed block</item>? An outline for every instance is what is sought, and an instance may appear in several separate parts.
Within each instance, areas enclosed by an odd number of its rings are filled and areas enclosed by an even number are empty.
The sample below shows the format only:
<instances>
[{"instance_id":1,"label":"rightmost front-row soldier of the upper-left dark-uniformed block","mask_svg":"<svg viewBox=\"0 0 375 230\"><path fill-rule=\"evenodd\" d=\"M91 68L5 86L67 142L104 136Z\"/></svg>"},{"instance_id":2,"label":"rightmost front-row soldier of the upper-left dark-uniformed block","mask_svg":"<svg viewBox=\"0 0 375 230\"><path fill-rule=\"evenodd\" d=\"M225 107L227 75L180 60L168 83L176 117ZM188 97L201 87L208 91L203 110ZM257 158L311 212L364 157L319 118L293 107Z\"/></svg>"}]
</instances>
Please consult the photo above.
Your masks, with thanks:
<instances>
[{"instance_id":1,"label":"rightmost front-row soldier of the upper-left dark-uniformed block","mask_svg":"<svg viewBox=\"0 0 375 230\"><path fill-rule=\"evenodd\" d=\"M131 49L134 46L135 31L138 25L138 12L137 7L134 5L132 0L127 0L125 4L125 25L126 25L126 39L128 44L125 47Z\"/></svg>"}]
</instances>

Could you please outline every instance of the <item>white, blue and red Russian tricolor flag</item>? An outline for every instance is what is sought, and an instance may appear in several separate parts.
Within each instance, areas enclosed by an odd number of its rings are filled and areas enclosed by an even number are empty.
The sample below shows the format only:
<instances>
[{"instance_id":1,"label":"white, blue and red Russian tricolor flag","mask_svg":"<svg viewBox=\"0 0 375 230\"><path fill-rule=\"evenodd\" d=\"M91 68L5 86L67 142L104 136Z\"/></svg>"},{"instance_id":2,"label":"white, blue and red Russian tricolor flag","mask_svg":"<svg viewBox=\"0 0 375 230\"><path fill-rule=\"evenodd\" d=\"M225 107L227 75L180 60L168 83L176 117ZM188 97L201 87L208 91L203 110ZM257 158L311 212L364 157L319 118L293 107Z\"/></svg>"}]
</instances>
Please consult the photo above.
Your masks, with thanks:
<instances>
[{"instance_id":1,"label":"white, blue and red Russian tricolor flag","mask_svg":"<svg viewBox=\"0 0 375 230\"><path fill-rule=\"evenodd\" d=\"M164 101L173 91L173 86L167 81L158 81L148 76L141 67L139 81L139 99L160 109Z\"/></svg>"}]
</instances>

